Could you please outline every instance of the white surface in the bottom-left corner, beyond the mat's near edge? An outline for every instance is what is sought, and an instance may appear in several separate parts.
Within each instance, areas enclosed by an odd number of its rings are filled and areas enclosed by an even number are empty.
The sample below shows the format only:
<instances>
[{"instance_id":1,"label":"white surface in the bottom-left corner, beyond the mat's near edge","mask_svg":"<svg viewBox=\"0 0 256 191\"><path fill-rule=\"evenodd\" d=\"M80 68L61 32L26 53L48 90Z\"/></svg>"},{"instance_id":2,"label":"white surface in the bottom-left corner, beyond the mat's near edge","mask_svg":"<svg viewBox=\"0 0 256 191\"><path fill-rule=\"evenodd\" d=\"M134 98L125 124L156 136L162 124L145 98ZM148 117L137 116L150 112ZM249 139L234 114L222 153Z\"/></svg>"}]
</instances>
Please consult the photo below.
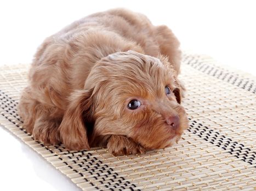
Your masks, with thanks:
<instances>
[{"instance_id":1,"label":"white surface in the bottom-left corner, beyond the mat's near edge","mask_svg":"<svg viewBox=\"0 0 256 191\"><path fill-rule=\"evenodd\" d=\"M0 190L81 190L2 126L0 145Z\"/></svg>"}]
</instances>

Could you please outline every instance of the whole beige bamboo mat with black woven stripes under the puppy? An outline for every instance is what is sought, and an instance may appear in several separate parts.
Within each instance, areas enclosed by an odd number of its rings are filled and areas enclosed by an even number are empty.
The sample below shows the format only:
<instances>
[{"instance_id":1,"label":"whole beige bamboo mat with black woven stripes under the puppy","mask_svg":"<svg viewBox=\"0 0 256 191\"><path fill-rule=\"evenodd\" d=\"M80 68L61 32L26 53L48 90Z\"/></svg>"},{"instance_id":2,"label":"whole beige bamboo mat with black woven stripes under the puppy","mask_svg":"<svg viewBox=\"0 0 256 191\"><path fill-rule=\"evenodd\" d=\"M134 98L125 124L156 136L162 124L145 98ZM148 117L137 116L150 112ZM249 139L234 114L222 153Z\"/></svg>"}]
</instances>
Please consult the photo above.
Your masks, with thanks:
<instances>
[{"instance_id":1,"label":"whole beige bamboo mat with black woven stripes under the puppy","mask_svg":"<svg viewBox=\"0 0 256 191\"><path fill-rule=\"evenodd\" d=\"M0 68L0 124L83 190L256 190L256 77L184 55L190 128L179 144L135 156L44 146L16 112L29 65Z\"/></svg>"}]
</instances>

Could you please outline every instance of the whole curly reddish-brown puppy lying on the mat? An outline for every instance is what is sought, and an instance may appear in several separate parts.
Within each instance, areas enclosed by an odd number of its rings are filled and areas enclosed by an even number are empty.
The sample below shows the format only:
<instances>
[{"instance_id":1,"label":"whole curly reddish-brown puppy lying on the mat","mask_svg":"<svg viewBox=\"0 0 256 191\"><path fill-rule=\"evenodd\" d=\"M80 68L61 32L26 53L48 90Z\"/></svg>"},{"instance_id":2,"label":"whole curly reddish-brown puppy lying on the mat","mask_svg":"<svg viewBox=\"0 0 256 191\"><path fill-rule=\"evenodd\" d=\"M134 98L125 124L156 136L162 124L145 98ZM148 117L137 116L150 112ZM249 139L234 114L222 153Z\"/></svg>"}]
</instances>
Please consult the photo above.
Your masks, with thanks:
<instances>
[{"instance_id":1,"label":"whole curly reddish-brown puppy lying on the mat","mask_svg":"<svg viewBox=\"0 0 256 191\"><path fill-rule=\"evenodd\" d=\"M142 14L84 17L38 48L19 115L35 139L70 150L107 146L117 156L171 146L188 127L180 58L172 31Z\"/></svg>"}]
</instances>

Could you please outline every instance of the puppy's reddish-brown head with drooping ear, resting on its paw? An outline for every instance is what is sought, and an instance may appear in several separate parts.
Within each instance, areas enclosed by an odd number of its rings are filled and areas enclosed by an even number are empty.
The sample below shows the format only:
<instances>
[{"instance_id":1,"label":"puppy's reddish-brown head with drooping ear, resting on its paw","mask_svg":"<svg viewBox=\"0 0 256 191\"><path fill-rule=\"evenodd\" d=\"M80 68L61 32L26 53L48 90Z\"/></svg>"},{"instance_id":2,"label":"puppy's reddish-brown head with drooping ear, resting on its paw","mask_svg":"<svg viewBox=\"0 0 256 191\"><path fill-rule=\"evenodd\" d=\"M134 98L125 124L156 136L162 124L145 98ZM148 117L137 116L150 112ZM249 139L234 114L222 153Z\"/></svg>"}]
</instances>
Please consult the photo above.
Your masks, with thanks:
<instances>
[{"instance_id":1,"label":"puppy's reddish-brown head with drooping ear, resting on its paw","mask_svg":"<svg viewBox=\"0 0 256 191\"><path fill-rule=\"evenodd\" d=\"M188 127L180 91L167 59L113 53L94 65L84 89L71 96L61 140L75 150L109 135L127 136L148 149L170 146Z\"/></svg>"}]
</instances>

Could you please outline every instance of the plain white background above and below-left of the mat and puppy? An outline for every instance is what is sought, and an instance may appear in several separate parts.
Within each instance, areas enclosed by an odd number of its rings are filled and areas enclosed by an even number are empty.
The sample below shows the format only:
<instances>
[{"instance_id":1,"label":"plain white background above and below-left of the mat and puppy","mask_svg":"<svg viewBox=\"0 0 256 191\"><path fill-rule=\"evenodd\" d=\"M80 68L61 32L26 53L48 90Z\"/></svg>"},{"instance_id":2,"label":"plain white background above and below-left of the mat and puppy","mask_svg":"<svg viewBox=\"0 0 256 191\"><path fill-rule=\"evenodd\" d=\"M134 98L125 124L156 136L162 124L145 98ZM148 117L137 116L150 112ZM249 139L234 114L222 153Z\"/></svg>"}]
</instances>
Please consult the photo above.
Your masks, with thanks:
<instances>
[{"instance_id":1,"label":"plain white background above and below-left of the mat and puppy","mask_svg":"<svg viewBox=\"0 0 256 191\"><path fill-rule=\"evenodd\" d=\"M146 14L154 25L172 28L183 50L256 75L254 2L1 1L0 65L30 63L45 37L88 14L123 7ZM79 190L2 127L0 149L0 190Z\"/></svg>"}]
</instances>

